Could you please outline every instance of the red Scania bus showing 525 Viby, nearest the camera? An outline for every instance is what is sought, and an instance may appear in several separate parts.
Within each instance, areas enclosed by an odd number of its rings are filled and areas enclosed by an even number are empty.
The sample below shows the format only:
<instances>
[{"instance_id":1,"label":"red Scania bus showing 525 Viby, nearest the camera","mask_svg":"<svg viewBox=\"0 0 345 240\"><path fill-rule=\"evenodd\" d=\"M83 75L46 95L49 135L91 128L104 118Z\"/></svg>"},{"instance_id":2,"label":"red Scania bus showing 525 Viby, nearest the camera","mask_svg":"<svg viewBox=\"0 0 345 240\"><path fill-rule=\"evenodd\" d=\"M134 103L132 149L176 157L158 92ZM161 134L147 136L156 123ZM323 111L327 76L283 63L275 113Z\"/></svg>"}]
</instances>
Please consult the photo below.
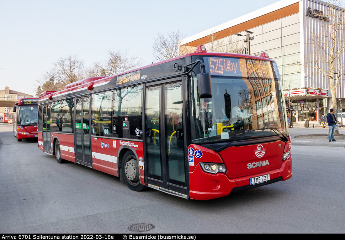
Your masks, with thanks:
<instances>
[{"instance_id":1,"label":"red Scania bus showing 525 Viby, nearest the camera","mask_svg":"<svg viewBox=\"0 0 345 240\"><path fill-rule=\"evenodd\" d=\"M194 53L41 94L38 146L65 160L207 200L292 177L277 64Z\"/></svg>"}]
</instances>

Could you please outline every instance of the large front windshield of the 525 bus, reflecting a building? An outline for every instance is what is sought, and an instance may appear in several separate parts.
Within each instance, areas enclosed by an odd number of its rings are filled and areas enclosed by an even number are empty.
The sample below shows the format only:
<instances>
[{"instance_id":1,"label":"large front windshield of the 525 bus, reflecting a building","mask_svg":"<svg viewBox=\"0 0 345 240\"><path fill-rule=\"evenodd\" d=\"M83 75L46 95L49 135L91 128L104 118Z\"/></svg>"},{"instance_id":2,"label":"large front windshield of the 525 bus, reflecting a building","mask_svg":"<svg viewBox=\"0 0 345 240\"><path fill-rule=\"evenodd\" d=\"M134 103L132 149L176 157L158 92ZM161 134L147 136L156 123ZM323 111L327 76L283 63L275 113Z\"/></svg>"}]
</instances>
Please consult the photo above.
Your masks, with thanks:
<instances>
[{"instance_id":1,"label":"large front windshield of the 525 bus, reflecting a building","mask_svg":"<svg viewBox=\"0 0 345 240\"><path fill-rule=\"evenodd\" d=\"M194 143L287 134L278 79L211 77L212 97L200 99L191 77L190 121Z\"/></svg>"}]
</instances>

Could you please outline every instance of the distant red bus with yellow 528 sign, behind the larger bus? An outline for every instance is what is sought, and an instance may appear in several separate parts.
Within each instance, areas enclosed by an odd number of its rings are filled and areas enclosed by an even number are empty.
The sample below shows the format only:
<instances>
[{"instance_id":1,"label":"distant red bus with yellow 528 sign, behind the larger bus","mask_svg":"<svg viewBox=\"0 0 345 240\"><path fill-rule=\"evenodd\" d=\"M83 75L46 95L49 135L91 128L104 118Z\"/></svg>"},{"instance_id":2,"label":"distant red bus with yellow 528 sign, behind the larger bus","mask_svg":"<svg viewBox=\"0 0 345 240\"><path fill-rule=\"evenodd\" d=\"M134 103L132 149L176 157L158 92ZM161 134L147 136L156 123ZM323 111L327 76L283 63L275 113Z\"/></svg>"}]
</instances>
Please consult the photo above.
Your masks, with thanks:
<instances>
[{"instance_id":1,"label":"distant red bus with yellow 528 sign, behind the larger bus","mask_svg":"<svg viewBox=\"0 0 345 240\"><path fill-rule=\"evenodd\" d=\"M13 133L17 141L37 138L38 98L20 98L13 106Z\"/></svg>"}]
</instances>

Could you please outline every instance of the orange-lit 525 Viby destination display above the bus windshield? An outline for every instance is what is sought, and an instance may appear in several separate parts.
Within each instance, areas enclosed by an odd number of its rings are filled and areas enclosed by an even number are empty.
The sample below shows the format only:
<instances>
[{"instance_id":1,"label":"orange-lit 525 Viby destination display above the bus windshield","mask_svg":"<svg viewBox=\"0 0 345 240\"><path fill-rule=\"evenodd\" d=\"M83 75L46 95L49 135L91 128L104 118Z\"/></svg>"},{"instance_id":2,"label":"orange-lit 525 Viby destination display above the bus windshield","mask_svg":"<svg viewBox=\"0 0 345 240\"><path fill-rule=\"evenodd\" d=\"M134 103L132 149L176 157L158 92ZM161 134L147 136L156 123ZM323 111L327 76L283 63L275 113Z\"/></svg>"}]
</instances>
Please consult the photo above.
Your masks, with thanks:
<instances>
[{"instance_id":1,"label":"orange-lit 525 Viby destination display above the bus windshield","mask_svg":"<svg viewBox=\"0 0 345 240\"><path fill-rule=\"evenodd\" d=\"M204 57L211 75L273 78L270 61L252 58Z\"/></svg>"}]
</instances>

